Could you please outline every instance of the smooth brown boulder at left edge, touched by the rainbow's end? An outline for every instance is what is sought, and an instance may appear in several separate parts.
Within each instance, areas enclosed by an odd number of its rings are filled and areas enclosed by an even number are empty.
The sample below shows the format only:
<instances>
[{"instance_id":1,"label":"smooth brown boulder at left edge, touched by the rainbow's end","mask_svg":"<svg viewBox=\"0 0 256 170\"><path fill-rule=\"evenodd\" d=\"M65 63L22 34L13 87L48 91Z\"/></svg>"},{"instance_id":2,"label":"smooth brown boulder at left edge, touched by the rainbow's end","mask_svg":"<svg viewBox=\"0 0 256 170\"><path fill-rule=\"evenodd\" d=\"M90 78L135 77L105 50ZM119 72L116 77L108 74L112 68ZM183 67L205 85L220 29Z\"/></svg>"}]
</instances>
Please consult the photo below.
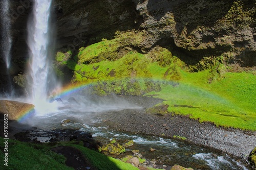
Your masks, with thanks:
<instances>
[{"instance_id":1,"label":"smooth brown boulder at left edge, touched by the rainbow's end","mask_svg":"<svg viewBox=\"0 0 256 170\"><path fill-rule=\"evenodd\" d=\"M34 105L17 101L0 101L0 114L8 114L9 120L19 120L22 116L35 112Z\"/></svg>"}]
</instances>

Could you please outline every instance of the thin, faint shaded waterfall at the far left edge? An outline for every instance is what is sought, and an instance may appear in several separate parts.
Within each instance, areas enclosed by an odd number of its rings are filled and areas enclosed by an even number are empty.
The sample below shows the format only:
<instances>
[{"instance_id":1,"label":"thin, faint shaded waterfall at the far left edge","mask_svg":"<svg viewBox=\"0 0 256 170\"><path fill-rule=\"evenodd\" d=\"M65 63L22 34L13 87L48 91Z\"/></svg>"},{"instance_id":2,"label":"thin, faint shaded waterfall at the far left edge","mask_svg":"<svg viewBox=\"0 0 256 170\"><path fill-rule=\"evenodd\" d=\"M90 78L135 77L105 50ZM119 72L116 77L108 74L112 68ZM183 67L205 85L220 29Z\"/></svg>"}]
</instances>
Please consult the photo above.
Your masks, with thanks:
<instances>
[{"instance_id":1,"label":"thin, faint shaded waterfall at the far left edge","mask_svg":"<svg viewBox=\"0 0 256 170\"><path fill-rule=\"evenodd\" d=\"M7 71L10 68L11 63L11 45L12 45L12 39L10 34L11 29L11 22L10 22L10 15L9 15L9 0L2 0L0 3L2 9L1 9L1 22L2 22L2 40L1 40L1 46L2 46L2 55L4 57Z\"/></svg>"}]
</instances>

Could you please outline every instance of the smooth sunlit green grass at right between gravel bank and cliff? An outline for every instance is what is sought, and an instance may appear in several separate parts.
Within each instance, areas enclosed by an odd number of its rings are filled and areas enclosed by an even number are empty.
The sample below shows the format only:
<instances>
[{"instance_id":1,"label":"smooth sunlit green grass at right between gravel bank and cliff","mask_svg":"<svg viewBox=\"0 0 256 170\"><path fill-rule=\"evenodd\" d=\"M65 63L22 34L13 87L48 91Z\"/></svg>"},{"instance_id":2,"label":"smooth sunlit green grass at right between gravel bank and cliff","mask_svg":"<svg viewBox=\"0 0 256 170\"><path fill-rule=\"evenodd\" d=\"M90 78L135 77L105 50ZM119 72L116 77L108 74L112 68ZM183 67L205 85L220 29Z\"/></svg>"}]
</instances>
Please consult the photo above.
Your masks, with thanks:
<instances>
[{"instance_id":1,"label":"smooth sunlit green grass at right between gravel bank and cliff","mask_svg":"<svg viewBox=\"0 0 256 170\"><path fill-rule=\"evenodd\" d=\"M208 84L205 74L207 71L188 74L190 81L183 77L178 86L166 86L147 95L164 99L169 112L217 126L255 131L255 76L227 72L224 79Z\"/></svg>"}]
</instances>

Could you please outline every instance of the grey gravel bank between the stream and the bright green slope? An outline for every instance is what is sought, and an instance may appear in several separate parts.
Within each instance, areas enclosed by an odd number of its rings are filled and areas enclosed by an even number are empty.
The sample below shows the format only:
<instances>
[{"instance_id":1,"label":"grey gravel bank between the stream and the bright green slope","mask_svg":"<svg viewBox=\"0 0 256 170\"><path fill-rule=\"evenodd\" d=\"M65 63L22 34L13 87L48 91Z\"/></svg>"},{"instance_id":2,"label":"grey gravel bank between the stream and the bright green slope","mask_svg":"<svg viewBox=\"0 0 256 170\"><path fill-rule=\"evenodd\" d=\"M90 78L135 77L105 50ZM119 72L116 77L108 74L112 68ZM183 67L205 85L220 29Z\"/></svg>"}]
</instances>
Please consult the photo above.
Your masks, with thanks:
<instances>
[{"instance_id":1,"label":"grey gravel bank between the stream and the bright green slope","mask_svg":"<svg viewBox=\"0 0 256 170\"><path fill-rule=\"evenodd\" d=\"M142 106L143 109L108 111L100 115L111 129L133 133L174 135L186 137L188 142L221 150L246 161L249 153L256 147L256 132L237 129L217 128L211 123L199 123L185 116L158 116L146 114L145 109L161 100L151 97L121 96L126 101ZM107 120L107 121L106 121Z\"/></svg>"}]
</instances>

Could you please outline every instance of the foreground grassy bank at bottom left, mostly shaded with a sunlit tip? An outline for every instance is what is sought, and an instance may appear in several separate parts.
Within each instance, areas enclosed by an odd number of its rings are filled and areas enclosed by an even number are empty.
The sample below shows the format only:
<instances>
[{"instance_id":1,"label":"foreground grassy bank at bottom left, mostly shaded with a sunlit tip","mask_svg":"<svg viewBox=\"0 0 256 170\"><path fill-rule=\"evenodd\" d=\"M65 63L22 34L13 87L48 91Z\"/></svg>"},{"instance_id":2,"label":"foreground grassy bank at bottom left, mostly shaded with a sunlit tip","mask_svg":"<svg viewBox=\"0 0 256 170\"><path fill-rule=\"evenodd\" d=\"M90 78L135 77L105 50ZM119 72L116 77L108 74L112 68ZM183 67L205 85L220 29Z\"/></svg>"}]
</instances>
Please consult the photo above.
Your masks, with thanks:
<instances>
[{"instance_id":1,"label":"foreground grassy bank at bottom left, mostly shaded with a sunlit tip","mask_svg":"<svg viewBox=\"0 0 256 170\"><path fill-rule=\"evenodd\" d=\"M0 142L3 143L4 139L0 137ZM84 148L80 145L72 143L61 143L61 145L70 145L71 147L80 150L84 156L94 165L97 169L138 169L132 164L122 162L112 157L105 156L103 154L92 151L88 148ZM57 145L55 146L57 147ZM2 144L1 144L2 148ZM55 152L50 151L50 146L47 144L31 144L26 142L20 142L17 140L9 139L8 142L8 166L1 163L1 169L67 169L73 168L65 165L65 157ZM4 147L1 149L4 151ZM3 158L4 153L0 152L0 156Z\"/></svg>"}]
</instances>

